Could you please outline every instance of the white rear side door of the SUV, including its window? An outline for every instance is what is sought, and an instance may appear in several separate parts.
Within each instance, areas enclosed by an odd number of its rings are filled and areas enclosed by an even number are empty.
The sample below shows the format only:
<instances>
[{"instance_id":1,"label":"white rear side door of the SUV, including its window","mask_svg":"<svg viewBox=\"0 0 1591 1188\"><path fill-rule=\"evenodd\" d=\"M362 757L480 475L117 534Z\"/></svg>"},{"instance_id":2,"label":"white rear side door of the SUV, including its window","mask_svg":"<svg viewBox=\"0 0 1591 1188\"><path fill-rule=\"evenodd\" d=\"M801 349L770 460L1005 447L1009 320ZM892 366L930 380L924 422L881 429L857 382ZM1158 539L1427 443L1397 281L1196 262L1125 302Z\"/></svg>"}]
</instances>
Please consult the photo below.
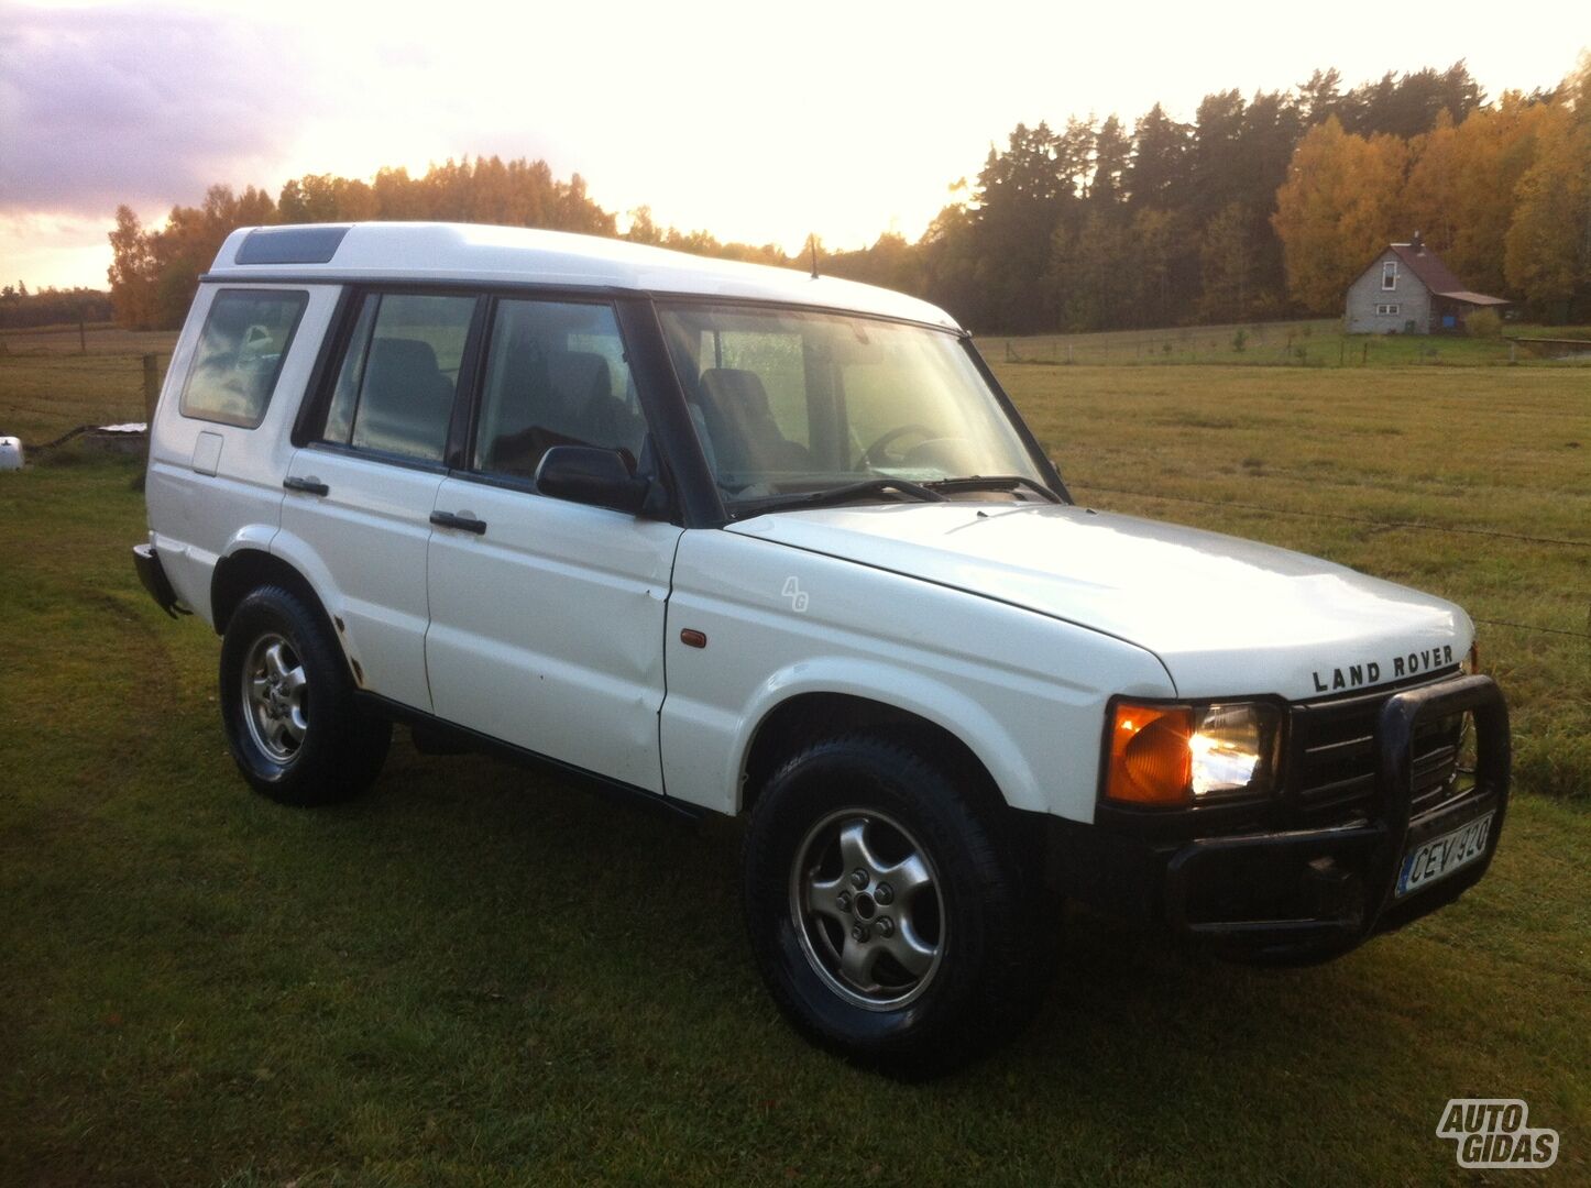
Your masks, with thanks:
<instances>
[{"instance_id":1,"label":"white rear side door of the SUV, including its window","mask_svg":"<svg viewBox=\"0 0 1591 1188\"><path fill-rule=\"evenodd\" d=\"M426 711L431 511L482 305L474 294L356 297L282 509L283 549L318 568L360 682Z\"/></svg>"}]
</instances>

